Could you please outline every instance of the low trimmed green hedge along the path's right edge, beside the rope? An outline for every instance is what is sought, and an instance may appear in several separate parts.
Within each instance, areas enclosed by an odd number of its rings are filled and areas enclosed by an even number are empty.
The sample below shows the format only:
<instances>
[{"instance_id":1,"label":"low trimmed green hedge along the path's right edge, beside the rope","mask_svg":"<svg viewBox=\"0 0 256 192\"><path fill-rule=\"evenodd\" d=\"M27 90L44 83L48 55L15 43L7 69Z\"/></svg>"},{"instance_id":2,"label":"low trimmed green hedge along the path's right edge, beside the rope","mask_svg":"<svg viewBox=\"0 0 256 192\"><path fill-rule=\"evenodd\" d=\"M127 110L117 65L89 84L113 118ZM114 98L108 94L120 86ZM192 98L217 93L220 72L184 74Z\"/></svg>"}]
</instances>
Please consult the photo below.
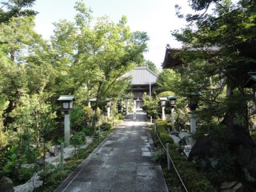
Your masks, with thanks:
<instances>
[{"instance_id":1,"label":"low trimmed green hedge along the path's right edge, beside the rope","mask_svg":"<svg viewBox=\"0 0 256 192\"><path fill-rule=\"evenodd\" d=\"M159 138L163 142L163 145L166 146L166 143L170 143L170 156L172 157L173 163L178 170L180 177L182 178L185 186L188 191L201 191L201 192L214 192L217 191L209 180L205 177L205 174L201 171L198 171L195 167L195 163L188 162L187 159L176 150L173 139L168 134L166 127L170 126L169 123L164 121L156 121L156 130L159 135ZM157 148L162 148L161 143L158 141L156 135L154 135L154 130L151 130L153 133L153 139ZM165 156L166 158L166 156ZM166 162L162 162L162 169L164 172L165 180L169 191L175 191L178 189L183 189L181 182L178 178L177 173L175 172L173 166L171 170L167 170ZM179 191L179 190L178 190ZM182 190L181 190L182 191Z\"/></svg>"}]
</instances>

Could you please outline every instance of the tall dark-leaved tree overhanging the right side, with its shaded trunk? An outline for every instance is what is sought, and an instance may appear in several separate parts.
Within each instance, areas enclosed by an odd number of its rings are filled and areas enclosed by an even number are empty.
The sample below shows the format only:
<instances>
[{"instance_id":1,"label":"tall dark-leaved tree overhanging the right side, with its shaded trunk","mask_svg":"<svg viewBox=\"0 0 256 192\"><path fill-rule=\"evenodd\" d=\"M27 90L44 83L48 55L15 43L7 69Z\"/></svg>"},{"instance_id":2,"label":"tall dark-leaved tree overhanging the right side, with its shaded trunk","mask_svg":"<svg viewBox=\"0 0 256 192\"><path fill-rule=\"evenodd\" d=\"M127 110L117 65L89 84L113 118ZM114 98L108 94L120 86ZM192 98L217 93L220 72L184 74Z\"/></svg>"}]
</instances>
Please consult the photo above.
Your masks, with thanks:
<instances>
[{"instance_id":1,"label":"tall dark-leaved tree overhanging the right side, with its shaded trunk","mask_svg":"<svg viewBox=\"0 0 256 192\"><path fill-rule=\"evenodd\" d=\"M240 0L235 4L229 0L191 0L190 4L193 10L204 12L188 14L186 20L190 25L181 32L173 31L173 35L184 44L185 50L200 53L183 52L177 57L189 63L190 71L200 74L202 80L208 78L210 82L213 80L210 77L217 77L216 84L221 82L227 85L227 98L223 101L225 108L222 108L225 114L223 122L232 125L242 121L248 129L243 84L248 78L247 72L256 70L253 51L256 48L256 3L250 0ZM215 4L214 12L208 14L211 4ZM180 10L178 14L182 17ZM209 51L214 51L214 54L209 54ZM195 79L193 73L187 75Z\"/></svg>"}]
</instances>

